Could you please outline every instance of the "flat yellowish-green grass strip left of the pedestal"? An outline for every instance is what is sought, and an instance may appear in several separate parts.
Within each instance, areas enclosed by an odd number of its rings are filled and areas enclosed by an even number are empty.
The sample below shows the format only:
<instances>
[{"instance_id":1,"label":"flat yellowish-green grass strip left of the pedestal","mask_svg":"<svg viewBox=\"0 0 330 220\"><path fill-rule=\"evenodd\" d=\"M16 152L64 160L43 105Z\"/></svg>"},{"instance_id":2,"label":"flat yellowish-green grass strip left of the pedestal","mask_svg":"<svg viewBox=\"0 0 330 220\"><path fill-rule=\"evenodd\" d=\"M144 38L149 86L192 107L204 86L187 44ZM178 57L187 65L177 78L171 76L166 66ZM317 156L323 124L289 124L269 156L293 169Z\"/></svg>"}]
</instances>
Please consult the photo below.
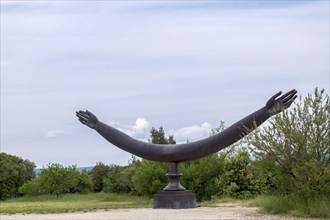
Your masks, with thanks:
<instances>
[{"instance_id":1,"label":"flat yellowish-green grass strip left of the pedestal","mask_svg":"<svg viewBox=\"0 0 330 220\"><path fill-rule=\"evenodd\" d=\"M86 195L67 194L61 196L33 196L2 201L0 213L66 213L90 212L99 209L152 207L149 197L127 194L93 193Z\"/></svg>"}]
</instances>

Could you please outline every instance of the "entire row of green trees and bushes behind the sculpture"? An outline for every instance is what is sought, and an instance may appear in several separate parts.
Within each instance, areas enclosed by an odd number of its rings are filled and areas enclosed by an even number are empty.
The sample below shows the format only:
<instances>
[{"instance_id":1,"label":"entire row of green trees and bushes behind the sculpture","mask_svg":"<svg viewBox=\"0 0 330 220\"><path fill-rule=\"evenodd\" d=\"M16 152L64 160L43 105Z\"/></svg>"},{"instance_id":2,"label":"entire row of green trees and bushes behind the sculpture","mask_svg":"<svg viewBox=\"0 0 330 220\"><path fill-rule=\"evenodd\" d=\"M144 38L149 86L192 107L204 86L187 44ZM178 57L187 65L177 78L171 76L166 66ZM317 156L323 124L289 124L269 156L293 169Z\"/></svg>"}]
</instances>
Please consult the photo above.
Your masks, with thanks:
<instances>
[{"instance_id":1,"label":"entire row of green trees and bushes behind the sculpture","mask_svg":"<svg viewBox=\"0 0 330 220\"><path fill-rule=\"evenodd\" d=\"M224 129L221 123L214 135ZM181 184L197 195L250 198L260 194L330 197L330 100L315 89L275 115L240 143L200 160L180 163ZM152 128L150 142L175 144ZM0 154L1 199L17 195L111 192L152 196L167 183L167 163L132 159L126 166L97 163L87 172L49 164L37 176L35 165Z\"/></svg>"}]
</instances>

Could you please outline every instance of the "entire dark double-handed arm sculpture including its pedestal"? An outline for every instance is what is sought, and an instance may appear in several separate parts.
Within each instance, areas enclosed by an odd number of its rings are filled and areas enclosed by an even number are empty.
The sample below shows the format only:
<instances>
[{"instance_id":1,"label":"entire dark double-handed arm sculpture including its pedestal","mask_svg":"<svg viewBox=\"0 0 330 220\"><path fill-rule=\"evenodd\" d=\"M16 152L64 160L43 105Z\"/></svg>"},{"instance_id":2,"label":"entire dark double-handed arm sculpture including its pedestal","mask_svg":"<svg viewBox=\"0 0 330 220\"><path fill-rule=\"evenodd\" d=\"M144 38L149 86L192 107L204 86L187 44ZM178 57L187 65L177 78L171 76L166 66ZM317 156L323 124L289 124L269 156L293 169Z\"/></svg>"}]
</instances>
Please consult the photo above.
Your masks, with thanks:
<instances>
[{"instance_id":1,"label":"entire dark double-handed arm sculpture including its pedestal","mask_svg":"<svg viewBox=\"0 0 330 220\"><path fill-rule=\"evenodd\" d=\"M113 145L144 159L159 162L170 162L169 184L155 195L155 208L194 208L195 194L185 190L180 184L181 173L178 163L196 160L215 153L237 142L254 128L260 126L272 115L290 107L297 98L297 91L291 90L281 96L278 92L266 105L234 123L217 135L186 144L153 144L131 138L123 132L101 122L89 111L78 111L76 115L81 123L95 129ZM172 198L172 203L169 202Z\"/></svg>"}]
</instances>

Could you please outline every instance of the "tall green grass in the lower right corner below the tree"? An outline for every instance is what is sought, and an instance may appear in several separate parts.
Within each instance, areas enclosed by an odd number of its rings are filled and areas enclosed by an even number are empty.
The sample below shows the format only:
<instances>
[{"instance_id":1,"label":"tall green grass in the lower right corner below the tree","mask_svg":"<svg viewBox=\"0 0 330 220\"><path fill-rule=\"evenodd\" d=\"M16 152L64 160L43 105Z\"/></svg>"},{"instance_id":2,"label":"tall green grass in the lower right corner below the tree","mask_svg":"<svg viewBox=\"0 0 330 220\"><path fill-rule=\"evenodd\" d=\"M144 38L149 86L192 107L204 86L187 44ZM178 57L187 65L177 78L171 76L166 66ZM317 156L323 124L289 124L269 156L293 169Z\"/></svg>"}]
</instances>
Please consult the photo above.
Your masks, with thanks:
<instances>
[{"instance_id":1,"label":"tall green grass in the lower right corner below the tree","mask_svg":"<svg viewBox=\"0 0 330 220\"><path fill-rule=\"evenodd\" d=\"M260 206L263 211L271 214L330 218L330 197L324 195L259 196L251 204Z\"/></svg>"}]
</instances>

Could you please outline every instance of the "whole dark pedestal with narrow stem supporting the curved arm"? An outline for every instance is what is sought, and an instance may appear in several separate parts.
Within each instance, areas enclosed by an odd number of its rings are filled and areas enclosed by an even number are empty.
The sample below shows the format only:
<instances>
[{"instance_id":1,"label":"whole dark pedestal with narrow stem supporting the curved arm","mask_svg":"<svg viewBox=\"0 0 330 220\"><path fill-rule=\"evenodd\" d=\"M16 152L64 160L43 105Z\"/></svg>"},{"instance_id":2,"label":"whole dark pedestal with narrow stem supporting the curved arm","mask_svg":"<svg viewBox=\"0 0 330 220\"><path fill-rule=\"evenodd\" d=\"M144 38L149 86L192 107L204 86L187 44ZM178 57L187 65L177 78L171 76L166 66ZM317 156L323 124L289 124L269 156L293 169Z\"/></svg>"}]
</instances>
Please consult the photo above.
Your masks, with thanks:
<instances>
[{"instance_id":1,"label":"whole dark pedestal with narrow stem supporting the curved arm","mask_svg":"<svg viewBox=\"0 0 330 220\"><path fill-rule=\"evenodd\" d=\"M166 176L169 183L154 195L154 209L196 208L196 194L180 184L182 173L179 173L178 163L170 163L170 172Z\"/></svg>"}]
</instances>

